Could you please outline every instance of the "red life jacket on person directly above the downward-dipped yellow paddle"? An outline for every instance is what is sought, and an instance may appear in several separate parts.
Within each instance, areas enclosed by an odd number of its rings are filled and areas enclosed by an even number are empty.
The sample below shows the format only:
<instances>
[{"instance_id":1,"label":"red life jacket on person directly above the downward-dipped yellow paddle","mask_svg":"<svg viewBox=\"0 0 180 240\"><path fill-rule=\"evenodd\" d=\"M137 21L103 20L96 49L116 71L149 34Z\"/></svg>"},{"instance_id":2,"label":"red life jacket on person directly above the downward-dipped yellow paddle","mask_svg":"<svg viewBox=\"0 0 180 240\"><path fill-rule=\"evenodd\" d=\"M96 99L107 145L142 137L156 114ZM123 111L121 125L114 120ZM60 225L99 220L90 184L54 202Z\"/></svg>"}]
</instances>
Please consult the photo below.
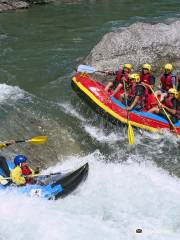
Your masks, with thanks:
<instances>
[{"instance_id":1,"label":"red life jacket on person directly above the downward-dipped yellow paddle","mask_svg":"<svg viewBox=\"0 0 180 240\"><path fill-rule=\"evenodd\" d=\"M146 110L146 109L148 109L148 89L147 89L147 87L146 87L144 84L142 84L142 83L139 83L138 85L141 85L141 86L144 87L145 93L143 94L143 96L139 97L139 100L138 100L138 102L137 102L137 105L142 106L142 108L143 108L144 110ZM135 98L136 86L137 86L137 85L136 85L135 83L132 84L131 93L129 94L129 96L131 96L131 97L133 97L133 98Z\"/></svg>"}]
</instances>

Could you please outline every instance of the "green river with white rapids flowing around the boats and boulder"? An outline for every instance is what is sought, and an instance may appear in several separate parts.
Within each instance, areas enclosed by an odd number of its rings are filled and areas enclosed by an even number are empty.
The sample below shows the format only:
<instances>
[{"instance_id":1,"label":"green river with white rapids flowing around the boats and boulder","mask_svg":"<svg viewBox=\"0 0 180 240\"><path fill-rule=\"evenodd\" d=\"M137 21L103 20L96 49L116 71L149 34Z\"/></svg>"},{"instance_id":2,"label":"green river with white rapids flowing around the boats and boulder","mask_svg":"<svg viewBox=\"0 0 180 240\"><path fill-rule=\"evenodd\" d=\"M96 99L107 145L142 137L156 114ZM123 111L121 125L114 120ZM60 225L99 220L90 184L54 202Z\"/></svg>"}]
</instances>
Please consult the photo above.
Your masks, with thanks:
<instances>
[{"instance_id":1,"label":"green river with white rapids flowing around the boats and boulder","mask_svg":"<svg viewBox=\"0 0 180 240\"><path fill-rule=\"evenodd\" d=\"M0 15L1 140L33 165L54 171L89 161L87 181L57 202L0 193L0 239L179 240L179 142L97 116L71 89L71 77L101 37L135 22L179 20L178 0L77 0ZM142 228L142 234L135 229Z\"/></svg>"}]
</instances>

